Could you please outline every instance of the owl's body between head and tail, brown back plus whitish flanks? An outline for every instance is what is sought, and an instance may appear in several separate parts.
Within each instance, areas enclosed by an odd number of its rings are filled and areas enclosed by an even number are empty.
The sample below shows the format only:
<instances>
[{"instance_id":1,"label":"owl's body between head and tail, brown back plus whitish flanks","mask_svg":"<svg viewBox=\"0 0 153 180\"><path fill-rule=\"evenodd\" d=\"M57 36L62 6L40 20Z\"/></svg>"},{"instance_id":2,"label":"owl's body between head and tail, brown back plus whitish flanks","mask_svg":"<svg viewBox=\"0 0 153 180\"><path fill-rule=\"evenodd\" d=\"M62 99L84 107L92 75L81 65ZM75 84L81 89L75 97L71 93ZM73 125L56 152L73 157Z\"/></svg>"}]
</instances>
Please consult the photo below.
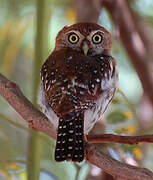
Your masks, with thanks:
<instances>
[{"instance_id":1,"label":"owl's body between head and tail, brown back plus whitish flanks","mask_svg":"<svg viewBox=\"0 0 153 180\"><path fill-rule=\"evenodd\" d=\"M41 77L39 102L51 122L57 128L60 117L81 110L85 133L112 100L117 82L111 56L85 56L70 49L55 51L44 63Z\"/></svg>"}]
</instances>

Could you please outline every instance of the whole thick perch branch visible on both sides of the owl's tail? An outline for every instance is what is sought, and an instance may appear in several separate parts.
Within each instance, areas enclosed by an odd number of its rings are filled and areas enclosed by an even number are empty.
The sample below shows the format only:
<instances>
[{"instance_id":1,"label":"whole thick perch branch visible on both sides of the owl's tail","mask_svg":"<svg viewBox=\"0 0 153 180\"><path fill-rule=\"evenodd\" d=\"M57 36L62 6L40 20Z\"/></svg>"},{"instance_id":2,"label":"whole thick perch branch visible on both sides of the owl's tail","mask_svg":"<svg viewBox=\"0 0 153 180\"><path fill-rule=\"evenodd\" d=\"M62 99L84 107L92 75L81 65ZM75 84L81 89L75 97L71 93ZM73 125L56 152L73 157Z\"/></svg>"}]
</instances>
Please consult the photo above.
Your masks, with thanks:
<instances>
[{"instance_id":1,"label":"whole thick perch branch visible on both sides of the owl's tail","mask_svg":"<svg viewBox=\"0 0 153 180\"><path fill-rule=\"evenodd\" d=\"M56 131L47 117L37 110L23 95L19 87L0 74L0 94L27 121L30 127L56 138ZM86 159L102 168L114 177L127 180L151 180L153 173L144 168L138 168L114 160L101 152L93 144L86 143Z\"/></svg>"}]
</instances>

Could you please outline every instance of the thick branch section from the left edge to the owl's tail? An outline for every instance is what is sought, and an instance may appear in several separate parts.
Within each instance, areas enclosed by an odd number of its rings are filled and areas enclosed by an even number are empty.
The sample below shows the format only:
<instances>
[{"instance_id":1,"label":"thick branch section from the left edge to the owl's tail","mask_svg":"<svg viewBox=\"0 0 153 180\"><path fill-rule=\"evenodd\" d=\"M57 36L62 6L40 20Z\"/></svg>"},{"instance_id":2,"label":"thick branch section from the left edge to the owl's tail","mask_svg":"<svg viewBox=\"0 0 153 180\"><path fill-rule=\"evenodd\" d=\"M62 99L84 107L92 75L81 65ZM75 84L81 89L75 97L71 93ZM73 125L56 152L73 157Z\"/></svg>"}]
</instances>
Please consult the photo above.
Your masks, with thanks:
<instances>
[{"instance_id":1,"label":"thick branch section from the left edge to the owl's tail","mask_svg":"<svg viewBox=\"0 0 153 180\"><path fill-rule=\"evenodd\" d=\"M23 95L17 84L0 74L0 95L27 121L29 127L56 138L56 131L48 118Z\"/></svg>"}]
</instances>

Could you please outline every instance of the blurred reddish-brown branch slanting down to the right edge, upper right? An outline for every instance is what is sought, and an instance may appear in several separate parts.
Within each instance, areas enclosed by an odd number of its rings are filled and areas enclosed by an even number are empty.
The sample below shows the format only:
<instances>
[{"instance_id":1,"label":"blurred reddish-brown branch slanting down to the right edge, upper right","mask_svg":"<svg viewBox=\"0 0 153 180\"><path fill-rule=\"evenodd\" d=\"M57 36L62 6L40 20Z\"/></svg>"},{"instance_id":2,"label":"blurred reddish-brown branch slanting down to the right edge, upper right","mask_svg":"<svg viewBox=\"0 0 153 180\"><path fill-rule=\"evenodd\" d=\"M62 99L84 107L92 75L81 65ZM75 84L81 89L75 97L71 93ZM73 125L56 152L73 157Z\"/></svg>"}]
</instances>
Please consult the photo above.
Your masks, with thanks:
<instances>
[{"instance_id":1,"label":"blurred reddish-brown branch slanting down to the right edge, upper right","mask_svg":"<svg viewBox=\"0 0 153 180\"><path fill-rule=\"evenodd\" d=\"M128 2L125 0L103 0L102 2L119 29L123 45L139 75L143 89L153 105L153 76L148 61L150 57L148 57L145 45L137 31Z\"/></svg>"}]
</instances>

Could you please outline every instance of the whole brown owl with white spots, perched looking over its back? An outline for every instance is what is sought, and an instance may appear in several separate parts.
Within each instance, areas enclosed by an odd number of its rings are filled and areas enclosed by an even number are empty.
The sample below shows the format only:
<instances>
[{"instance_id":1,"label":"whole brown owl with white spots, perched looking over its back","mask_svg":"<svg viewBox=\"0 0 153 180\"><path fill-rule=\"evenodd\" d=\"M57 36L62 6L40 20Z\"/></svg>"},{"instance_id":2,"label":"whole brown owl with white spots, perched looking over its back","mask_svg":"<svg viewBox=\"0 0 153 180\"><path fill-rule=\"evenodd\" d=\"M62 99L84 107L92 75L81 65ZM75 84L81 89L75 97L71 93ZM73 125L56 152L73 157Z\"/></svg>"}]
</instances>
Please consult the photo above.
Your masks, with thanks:
<instances>
[{"instance_id":1,"label":"whole brown owl with white spots, perched looking over its back","mask_svg":"<svg viewBox=\"0 0 153 180\"><path fill-rule=\"evenodd\" d=\"M38 103L57 130L55 160L81 162L85 135L111 102L117 87L112 38L94 23L64 27L41 69Z\"/></svg>"}]
</instances>

